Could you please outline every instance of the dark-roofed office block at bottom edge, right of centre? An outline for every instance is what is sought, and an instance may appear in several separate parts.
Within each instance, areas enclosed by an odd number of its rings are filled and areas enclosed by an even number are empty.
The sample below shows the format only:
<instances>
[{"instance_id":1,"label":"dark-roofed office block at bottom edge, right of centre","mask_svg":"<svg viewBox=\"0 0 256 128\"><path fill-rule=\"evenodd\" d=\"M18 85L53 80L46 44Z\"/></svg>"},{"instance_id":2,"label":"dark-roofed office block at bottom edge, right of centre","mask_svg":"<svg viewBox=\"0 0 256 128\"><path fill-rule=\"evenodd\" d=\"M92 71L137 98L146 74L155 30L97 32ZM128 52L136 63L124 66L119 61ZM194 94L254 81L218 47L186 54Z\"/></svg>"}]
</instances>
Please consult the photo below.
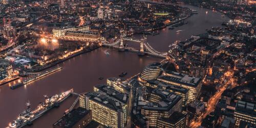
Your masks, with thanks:
<instances>
[{"instance_id":1,"label":"dark-roofed office block at bottom edge, right of centre","mask_svg":"<svg viewBox=\"0 0 256 128\"><path fill-rule=\"evenodd\" d=\"M186 115L181 112L174 112L169 118L158 118L157 127L160 128L183 128L186 127Z\"/></svg>"}]
</instances>

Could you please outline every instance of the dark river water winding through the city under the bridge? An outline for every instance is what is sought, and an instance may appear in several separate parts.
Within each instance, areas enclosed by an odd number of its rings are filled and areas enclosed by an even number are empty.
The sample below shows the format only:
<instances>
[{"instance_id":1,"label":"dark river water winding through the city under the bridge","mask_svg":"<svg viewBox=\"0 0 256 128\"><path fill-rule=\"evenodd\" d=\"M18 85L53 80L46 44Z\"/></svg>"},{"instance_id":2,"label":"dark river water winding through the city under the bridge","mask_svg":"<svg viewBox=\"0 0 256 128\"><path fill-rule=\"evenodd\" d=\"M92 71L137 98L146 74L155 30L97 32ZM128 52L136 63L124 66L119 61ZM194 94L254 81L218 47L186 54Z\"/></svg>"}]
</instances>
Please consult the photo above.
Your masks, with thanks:
<instances>
[{"instance_id":1,"label":"dark river water winding through the city under the bridge","mask_svg":"<svg viewBox=\"0 0 256 128\"><path fill-rule=\"evenodd\" d=\"M187 18L185 21L188 24L174 30L168 30L167 27L159 30L159 35L148 35L147 41L156 50L166 52L169 44L174 41L205 33L206 29L221 26L223 21L229 20L228 17L222 17L220 12L188 5L181 6L197 10L199 14ZM177 30L183 31L176 33ZM134 35L133 37L140 38L140 36ZM138 47L138 45L130 42L129 47ZM106 50L110 55L105 54ZM96 84L106 83L106 78L117 77L121 72L127 72L124 78L130 78L139 73L148 63L161 60L150 56L139 57L136 53L120 53L107 48L99 48L60 63L62 70L24 87L11 90L9 86L18 81L5 84L0 87L0 127L6 127L9 122L16 119L18 114L26 109L25 103L28 101L34 109L39 102L44 101L44 95L51 96L72 88L76 93L92 91ZM99 77L104 79L99 80ZM63 112L70 108L75 98L76 96L69 97L60 104L59 108L54 108L33 121L30 127L52 127L52 124L62 117Z\"/></svg>"}]
</instances>

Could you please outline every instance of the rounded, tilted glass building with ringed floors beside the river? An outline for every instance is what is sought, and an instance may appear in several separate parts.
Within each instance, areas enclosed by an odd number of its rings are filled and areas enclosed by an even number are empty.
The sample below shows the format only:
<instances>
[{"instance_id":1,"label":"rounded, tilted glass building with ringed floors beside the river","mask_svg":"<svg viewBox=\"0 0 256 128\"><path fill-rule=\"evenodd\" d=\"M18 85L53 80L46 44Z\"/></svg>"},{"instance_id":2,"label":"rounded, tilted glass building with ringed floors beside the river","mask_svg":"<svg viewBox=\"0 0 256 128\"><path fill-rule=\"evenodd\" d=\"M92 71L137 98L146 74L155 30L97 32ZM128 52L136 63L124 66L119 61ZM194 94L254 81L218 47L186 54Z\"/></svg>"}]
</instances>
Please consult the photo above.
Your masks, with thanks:
<instances>
[{"instance_id":1,"label":"rounded, tilted glass building with ringed floors beside the river","mask_svg":"<svg viewBox=\"0 0 256 128\"><path fill-rule=\"evenodd\" d=\"M162 65L160 62L154 62L147 65L143 71L141 72L139 78L142 81L157 79L159 75L162 73Z\"/></svg>"}]
</instances>

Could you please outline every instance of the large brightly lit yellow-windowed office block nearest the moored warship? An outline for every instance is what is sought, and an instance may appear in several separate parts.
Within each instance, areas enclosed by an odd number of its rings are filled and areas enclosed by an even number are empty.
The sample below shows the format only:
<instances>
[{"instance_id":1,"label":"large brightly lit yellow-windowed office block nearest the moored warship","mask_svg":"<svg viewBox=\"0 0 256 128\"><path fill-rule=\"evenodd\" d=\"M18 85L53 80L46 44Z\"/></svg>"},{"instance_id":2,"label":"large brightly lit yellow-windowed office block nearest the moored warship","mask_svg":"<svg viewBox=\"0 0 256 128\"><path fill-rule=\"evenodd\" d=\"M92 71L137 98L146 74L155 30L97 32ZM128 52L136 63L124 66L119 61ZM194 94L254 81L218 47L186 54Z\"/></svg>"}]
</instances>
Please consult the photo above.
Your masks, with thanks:
<instances>
[{"instance_id":1,"label":"large brightly lit yellow-windowed office block nearest the moored warship","mask_svg":"<svg viewBox=\"0 0 256 128\"><path fill-rule=\"evenodd\" d=\"M124 127L129 97L106 85L95 86L94 91L79 99L80 106L91 110L93 120L104 126Z\"/></svg>"}]
</instances>

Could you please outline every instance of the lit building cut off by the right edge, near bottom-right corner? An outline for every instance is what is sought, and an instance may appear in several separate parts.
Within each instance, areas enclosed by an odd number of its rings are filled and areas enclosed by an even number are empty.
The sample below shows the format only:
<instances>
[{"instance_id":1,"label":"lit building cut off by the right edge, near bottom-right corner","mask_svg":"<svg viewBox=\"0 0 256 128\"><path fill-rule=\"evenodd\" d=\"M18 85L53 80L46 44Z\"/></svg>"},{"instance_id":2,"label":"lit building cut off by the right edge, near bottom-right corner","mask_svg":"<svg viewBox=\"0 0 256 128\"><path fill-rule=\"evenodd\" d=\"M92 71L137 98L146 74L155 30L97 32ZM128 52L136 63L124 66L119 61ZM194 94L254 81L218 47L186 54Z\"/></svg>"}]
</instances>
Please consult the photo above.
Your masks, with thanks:
<instances>
[{"instance_id":1,"label":"lit building cut off by the right edge, near bottom-right corner","mask_svg":"<svg viewBox=\"0 0 256 128\"><path fill-rule=\"evenodd\" d=\"M237 126L241 121L256 125L256 104L239 100L234 111L234 119Z\"/></svg>"}]
</instances>

